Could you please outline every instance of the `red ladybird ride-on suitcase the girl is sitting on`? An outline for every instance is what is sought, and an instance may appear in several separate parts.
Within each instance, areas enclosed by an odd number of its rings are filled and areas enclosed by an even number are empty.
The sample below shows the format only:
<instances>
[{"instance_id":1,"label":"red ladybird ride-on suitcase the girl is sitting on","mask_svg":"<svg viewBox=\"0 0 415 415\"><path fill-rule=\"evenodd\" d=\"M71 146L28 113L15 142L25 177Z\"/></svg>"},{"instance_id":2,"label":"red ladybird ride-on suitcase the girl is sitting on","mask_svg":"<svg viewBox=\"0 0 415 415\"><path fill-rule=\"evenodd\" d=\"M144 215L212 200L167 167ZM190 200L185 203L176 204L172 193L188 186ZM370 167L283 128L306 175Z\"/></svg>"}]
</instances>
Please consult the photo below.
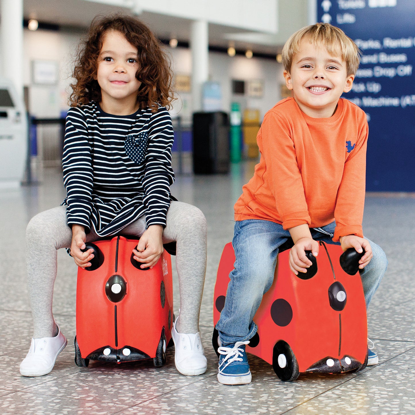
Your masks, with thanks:
<instances>
[{"instance_id":1,"label":"red ladybird ride-on suitcase the girl is sitting on","mask_svg":"<svg viewBox=\"0 0 415 415\"><path fill-rule=\"evenodd\" d=\"M122 236L86 244L95 250L88 269L78 268L75 363L153 359L166 362L173 325L171 259L166 249L152 269L132 258L137 239Z\"/></svg>"}]
</instances>

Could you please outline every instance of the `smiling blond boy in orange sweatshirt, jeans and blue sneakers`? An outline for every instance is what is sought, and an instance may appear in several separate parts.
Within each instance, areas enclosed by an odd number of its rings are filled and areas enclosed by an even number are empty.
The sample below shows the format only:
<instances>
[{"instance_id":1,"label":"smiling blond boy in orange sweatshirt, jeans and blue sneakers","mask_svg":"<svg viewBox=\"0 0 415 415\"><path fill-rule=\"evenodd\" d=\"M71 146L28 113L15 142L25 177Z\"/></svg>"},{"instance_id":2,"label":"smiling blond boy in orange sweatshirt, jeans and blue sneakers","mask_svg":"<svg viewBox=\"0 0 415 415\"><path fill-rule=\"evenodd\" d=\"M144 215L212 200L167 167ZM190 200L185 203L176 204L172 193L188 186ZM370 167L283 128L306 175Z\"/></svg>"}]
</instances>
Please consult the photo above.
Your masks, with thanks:
<instances>
[{"instance_id":1,"label":"smiling blond boy in orange sweatshirt, jeans and blue sneakers","mask_svg":"<svg viewBox=\"0 0 415 415\"><path fill-rule=\"evenodd\" d=\"M359 273L366 308L388 264L362 230L366 115L340 98L352 89L359 49L341 29L317 23L293 34L282 55L293 98L266 113L257 136L261 159L234 206L235 268L216 325L217 378L229 385L251 382L245 345L257 331L252 319L288 238L294 243L289 258L296 275L312 264L305 251L318 255L317 240L364 251ZM368 364L377 362L369 349Z\"/></svg>"}]
</instances>

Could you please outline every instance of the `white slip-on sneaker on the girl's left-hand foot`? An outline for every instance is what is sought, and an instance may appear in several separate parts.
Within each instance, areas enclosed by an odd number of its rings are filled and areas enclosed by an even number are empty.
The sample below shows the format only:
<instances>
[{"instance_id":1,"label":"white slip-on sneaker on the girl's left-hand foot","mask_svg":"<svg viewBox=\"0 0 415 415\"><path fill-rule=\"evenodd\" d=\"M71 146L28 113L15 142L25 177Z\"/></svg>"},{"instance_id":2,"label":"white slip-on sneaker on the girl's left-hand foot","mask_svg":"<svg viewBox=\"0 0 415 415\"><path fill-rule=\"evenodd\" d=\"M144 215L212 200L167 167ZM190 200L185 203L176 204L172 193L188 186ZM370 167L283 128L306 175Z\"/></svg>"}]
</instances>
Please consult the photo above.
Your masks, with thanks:
<instances>
[{"instance_id":1,"label":"white slip-on sneaker on the girl's left-hand foot","mask_svg":"<svg viewBox=\"0 0 415 415\"><path fill-rule=\"evenodd\" d=\"M68 340L61 333L58 326L58 334L55 337L42 337L32 339L29 352L20 364L20 374L23 376L43 376L54 367L59 353L65 349Z\"/></svg>"}]
</instances>

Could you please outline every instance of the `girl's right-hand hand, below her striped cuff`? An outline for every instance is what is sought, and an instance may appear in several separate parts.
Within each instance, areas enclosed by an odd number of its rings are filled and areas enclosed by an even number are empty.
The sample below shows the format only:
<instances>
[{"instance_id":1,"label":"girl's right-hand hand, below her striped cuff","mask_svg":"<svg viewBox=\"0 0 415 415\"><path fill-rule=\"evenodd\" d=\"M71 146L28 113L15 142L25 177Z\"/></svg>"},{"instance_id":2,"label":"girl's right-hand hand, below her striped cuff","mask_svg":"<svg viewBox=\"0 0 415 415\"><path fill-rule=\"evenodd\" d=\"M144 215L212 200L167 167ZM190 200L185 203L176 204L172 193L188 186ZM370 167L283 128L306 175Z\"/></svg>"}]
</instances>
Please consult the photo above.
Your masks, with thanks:
<instances>
[{"instance_id":1,"label":"girl's right-hand hand, below her striped cuff","mask_svg":"<svg viewBox=\"0 0 415 415\"><path fill-rule=\"evenodd\" d=\"M153 268L163 253L163 227L150 225L141 235L137 249L133 249L134 259L142 262L140 268Z\"/></svg>"}]
</instances>

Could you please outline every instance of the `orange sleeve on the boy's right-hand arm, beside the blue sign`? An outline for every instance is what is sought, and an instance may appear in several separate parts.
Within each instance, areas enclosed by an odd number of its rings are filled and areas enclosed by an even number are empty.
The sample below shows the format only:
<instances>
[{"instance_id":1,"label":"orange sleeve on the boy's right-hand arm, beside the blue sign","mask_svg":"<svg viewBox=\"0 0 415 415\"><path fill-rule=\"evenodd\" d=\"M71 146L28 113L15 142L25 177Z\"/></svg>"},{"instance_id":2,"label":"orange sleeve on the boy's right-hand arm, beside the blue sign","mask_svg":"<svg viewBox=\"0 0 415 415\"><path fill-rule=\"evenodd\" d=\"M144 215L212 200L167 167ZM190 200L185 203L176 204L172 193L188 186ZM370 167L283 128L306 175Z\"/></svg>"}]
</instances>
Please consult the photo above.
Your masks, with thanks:
<instances>
[{"instance_id":1,"label":"orange sleeve on the boy's right-hand arm, beside the blue sign","mask_svg":"<svg viewBox=\"0 0 415 415\"><path fill-rule=\"evenodd\" d=\"M356 235L363 238L361 224L366 186L366 145L369 133L366 117L360 126L356 142L351 140L351 144L355 145L344 162L342 181L337 191L334 209L336 220L334 242L346 235Z\"/></svg>"}]
</instances>

